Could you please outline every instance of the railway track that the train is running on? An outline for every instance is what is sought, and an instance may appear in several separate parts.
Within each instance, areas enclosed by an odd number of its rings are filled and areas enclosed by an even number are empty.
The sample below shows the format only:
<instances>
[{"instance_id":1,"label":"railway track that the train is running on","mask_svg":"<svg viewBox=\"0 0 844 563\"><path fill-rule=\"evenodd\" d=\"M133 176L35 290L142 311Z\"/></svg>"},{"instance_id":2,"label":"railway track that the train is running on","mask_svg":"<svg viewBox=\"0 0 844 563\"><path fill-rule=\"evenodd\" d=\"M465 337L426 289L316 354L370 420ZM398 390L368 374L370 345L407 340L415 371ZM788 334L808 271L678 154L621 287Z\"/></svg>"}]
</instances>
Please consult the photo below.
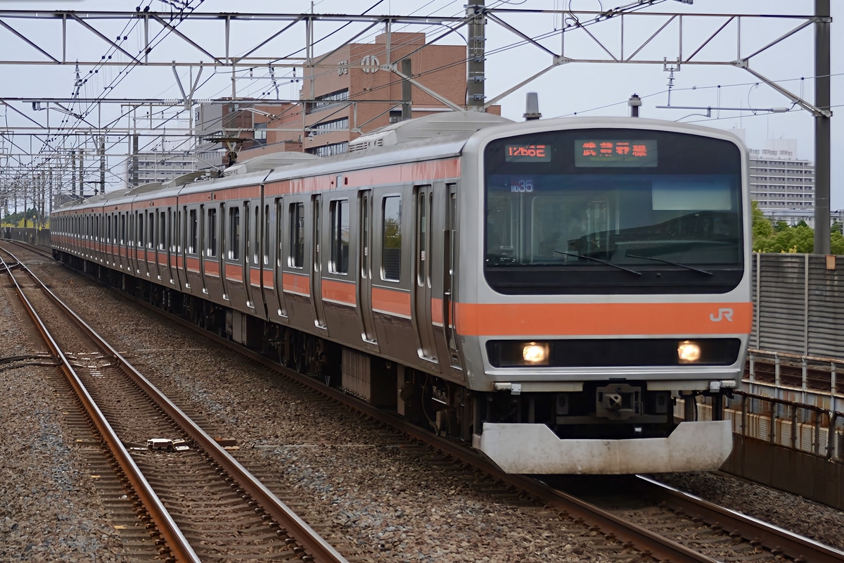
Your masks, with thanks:
<instances>
[{"instance_id":1,"label":"railway track that the train is running on","mask_svg":"<svg viewBox=\"0 0 844 563\"><path fill-rule=\"evenodd\" d=\"M333 398L338 403L421 442L426 448L430 448L428 453L422 454L429 458L430 463L439 465L458 463L463 466L460 470L468 475L484 474L485 479L488 479L487 484L476 483L475 486L485 487L484 490L490 494L508 499L508 501L530 498L539 504L554 506L560 513L561 528L565 528L566 532L579 535L585 542L592 545L592 549L603 549L613 553L614 558L619 561L657 560L697 563L712 563L720 560L806 563L844 561L844 554L836 549L830 549L812 540L784 532L766 522L742 517L738 513L711 505L690 495L684 495L679 491L660 489L656 483L646 480L637 481L640 485L637 485L632 495L630 495L630 490L628 491L627 500L638 502L640 495L649 489L648 495L659 498L657 505L664 507L661 508L662 517L649 519L641 515L637 516L634 512L605 508L585 501L579 495L559 490L553 484L546 484L542 480L524 475L504 474L484 457L468 450L462 444L435 436L393 414L376 409L371 404L354 398L342 390L326 387L313 377L304 376L295 370L280 366L252 350L243 349L225 338L207 333L180 317L160 311L143 301L136 302L186 328L197 330L238 354L260 362L269 370L277 371L303 387ZM658 494L657 491L659 491ZM669 509L668 506L672 508ZM708 538L690 537L684 532L688 529L706 530L705 535L708 534ZM596 535L603 539L596 541ZM708 545L711 542L716 545L714 547ZM728 557L722 558L725 554Z\"/></svg>"}]
</instances>

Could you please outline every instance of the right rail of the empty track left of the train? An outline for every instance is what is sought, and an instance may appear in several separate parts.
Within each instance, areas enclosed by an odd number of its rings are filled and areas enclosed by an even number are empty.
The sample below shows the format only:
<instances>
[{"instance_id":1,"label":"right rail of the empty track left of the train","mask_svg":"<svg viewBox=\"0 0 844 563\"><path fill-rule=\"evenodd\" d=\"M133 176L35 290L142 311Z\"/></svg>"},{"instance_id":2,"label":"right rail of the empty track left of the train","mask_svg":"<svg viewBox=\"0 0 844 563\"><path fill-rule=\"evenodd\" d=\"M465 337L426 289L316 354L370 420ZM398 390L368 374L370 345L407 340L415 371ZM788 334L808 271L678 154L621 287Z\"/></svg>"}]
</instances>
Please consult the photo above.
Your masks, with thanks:
<instances>
[{"instance_id":1,"label":"right rail of the empty track left of the train","mask_svg":"<svg viewBox=\"0 0 844 563\"><path fill-rule=\"evenodd\" d=\"M8 251L7 251L8 252ZM33 277L34 274L33 274ZM37 279L37 278L36 278ZM271 490L262 484L254 475L244 468L231 454L225 451L213 437L208 436L208 433L200 428L187 414L179 409L176 404L172 403L158 387L155 387L149 380L137 371L133 365L125 360L111 344L100 338L100 335L89 327L89 325L78 317L76 313L71 311L57 295L50 290L44 288L46 295L51 300L61 306L68 316L73 318L73 321L82 328L85 333L89 334L90 338L95 340L95 343L105 349L108 354L113 356L120 364L121 369L132 378L138 387L143 389L149 395L156 405L162 409L171 419L175 420L178 425L185 430L188 436L196 442L197 447L203 449L204 452L214 458L216 463L224 468L224 470L235 479L241 489L252 496L252 499L262 506L264 511L268 512L276 522L285 528L296 543L299 544L311 557L319 563L348 563L348 561L341 555L331 544L328 544L325 539L311 528L307 522L302 520L289 506L285 505L283 501L273 494ZM143 301L138 301L143 302ZM156 310L160 311L160 310Z\"/></svg>"}]
</instances>

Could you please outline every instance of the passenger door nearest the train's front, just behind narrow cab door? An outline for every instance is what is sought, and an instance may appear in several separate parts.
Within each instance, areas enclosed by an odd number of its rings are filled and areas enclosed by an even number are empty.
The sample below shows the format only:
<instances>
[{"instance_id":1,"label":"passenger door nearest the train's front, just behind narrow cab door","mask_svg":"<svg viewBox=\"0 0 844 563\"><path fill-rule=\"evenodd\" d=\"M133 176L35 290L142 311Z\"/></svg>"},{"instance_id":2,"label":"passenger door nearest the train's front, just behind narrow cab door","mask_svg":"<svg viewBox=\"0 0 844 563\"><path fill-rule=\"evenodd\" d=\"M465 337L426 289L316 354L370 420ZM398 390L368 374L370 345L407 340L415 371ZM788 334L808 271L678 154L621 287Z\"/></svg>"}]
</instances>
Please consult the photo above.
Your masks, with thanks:
<instances>
[{"instance_id":1,"label":"passenger door nearest the train's front, just behind narrow cab door","mask_svg":"<svg viewBox=\"0 0 844 563\"><path fill-rule=\"evenodd\" d=\"M415 233L414 253L414 326L419 334L419 356L425 360L436 361L436 343L434 325L431 319L430 264L432 260L430 245L432 190L430 186L415 188Z\"/></svg>"}]
</instances>

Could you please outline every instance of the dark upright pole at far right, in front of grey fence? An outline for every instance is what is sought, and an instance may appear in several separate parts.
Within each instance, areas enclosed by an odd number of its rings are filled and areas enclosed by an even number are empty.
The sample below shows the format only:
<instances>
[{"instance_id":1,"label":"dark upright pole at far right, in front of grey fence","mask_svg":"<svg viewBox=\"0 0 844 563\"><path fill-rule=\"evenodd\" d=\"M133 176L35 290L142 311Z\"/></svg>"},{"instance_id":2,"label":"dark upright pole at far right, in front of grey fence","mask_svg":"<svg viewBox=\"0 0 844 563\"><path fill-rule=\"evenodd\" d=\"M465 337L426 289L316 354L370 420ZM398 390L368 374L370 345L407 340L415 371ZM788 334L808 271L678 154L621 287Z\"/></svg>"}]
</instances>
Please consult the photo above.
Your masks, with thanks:
<instances>
[{"instance_id":1,"label":"dark upright pole at far right, in front of grey fence","mask_svg":"<svg viewBox=\"0 0 844 563\"><path fill-rule=\"evenodd\" d=\"M830 253L830 0L814 0L814 253Z\"/></svg>"}]
</instances>

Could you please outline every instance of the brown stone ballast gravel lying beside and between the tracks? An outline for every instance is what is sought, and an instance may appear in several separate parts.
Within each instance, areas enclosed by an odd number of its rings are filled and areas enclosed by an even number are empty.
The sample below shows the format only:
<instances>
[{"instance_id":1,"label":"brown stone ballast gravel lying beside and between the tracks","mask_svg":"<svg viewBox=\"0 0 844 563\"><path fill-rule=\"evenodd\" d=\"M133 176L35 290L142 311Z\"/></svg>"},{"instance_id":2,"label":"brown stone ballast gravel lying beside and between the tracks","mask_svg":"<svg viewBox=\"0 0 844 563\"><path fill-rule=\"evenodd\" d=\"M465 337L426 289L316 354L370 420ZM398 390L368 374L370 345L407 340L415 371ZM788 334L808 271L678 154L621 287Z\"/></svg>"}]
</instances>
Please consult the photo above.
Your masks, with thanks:
<instances>
[{"instance_id":1,"label":"brown stone ballast gravel lying beside and between the tracks","mask_svg":"<svg viewBox=\"0 0 844 563\"><path fill-rule=\"evenodd\" d=\"M344 529L356 560L614 560L605 546L569 532L555 512L490 494L471 475L430 463L419 448L344 409L317 407L259 366L57 263L43 259L33 269L165 392L236 438L235 457L310 499L321 522ZM0 358L40 351L20 333L21 319L8 305L14 295L5 291ZM0 560L130 560L62 432L41 369L0 371L0 381ZM844 549L844 514L827 506L719 475L667 477L692 494Z\"/></svg>"}]
</instances>

